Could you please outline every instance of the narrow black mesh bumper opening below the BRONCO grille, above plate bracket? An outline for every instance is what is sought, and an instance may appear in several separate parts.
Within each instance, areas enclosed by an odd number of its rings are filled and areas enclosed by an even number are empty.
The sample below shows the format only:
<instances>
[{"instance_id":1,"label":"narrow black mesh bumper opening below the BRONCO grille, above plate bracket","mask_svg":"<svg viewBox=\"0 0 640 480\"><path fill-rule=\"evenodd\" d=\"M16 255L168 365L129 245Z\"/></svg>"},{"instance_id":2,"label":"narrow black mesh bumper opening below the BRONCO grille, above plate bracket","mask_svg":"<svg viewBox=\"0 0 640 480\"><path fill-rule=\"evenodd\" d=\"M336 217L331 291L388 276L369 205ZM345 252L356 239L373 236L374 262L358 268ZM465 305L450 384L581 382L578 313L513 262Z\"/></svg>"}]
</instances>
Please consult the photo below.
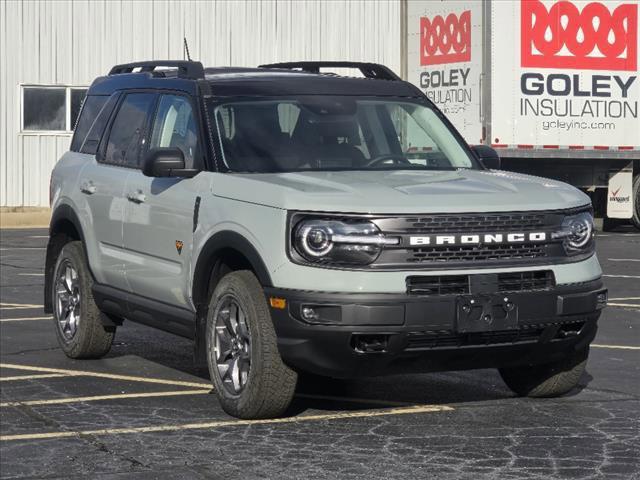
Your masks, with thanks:
<instances>
[{"instance_id":1,"label":"narrow black mesh bumper opening below the BRONCO grille, above plate bracket","mask_svg":"<svg viewBox=\"0 0 640 480\"><path fill-rule=\"evenodd\" d=\"M410 295L467 295L474 293L471 277L480 279L480 283L494 284L496 292L527 292L546 290L555 286L555 277L551 270L529 272L505 272L477 275L412 275L407 277L407 293Z\"/></svg>"}]
</instances>

